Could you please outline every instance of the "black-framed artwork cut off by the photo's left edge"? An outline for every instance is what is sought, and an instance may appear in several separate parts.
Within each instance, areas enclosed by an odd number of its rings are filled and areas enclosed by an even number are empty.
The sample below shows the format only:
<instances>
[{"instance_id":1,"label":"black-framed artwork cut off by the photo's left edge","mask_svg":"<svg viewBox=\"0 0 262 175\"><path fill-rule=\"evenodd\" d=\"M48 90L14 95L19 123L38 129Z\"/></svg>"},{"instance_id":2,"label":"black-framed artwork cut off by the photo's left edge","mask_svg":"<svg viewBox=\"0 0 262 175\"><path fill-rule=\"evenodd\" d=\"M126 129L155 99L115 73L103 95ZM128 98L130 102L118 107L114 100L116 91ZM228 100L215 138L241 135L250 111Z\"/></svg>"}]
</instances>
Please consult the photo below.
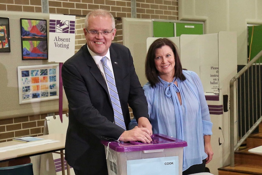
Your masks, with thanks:
<instances>
[{"instance_id":1,"label":"black-framed artwork cut off by the photo's left edge","mask_svg":"<svg viewBox=\"0 0 262 175\"><path fill-rule=\"evenodd\" d=\"M10 52L9 18L0 17L0 52Z\"/></svg>"}]
</instances>

